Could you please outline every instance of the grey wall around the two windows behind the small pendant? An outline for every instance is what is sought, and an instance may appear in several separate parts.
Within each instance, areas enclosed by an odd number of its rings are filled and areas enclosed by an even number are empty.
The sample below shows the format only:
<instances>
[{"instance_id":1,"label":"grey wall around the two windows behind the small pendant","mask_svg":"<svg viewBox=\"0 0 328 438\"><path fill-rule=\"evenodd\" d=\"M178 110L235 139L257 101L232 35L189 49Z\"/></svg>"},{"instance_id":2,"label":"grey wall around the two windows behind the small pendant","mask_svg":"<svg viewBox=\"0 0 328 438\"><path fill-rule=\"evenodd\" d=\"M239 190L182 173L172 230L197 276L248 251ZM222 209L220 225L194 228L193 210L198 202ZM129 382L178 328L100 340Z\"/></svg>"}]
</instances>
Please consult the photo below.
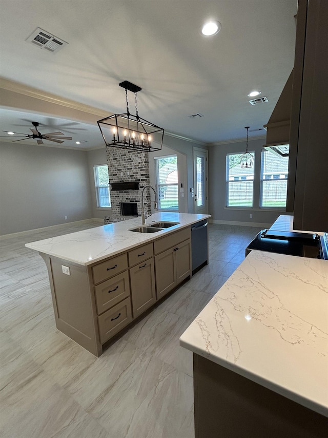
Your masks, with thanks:
<instances>
[{"instance_id":1,"label":"grey wall around the two windows behind the small pendant","mask_svg":"<svg viewBox=\"0 0 328 438\"><path fill-rule=\"evenodd\" d=\"M246 142L209 146L209 214L211 220L220 222L244 222L250 224L272 224L283 211L260 209L261 150L265 139L249 140L249 151L255 151L254 160L254 204L253 208L226 207L226 156L229 153L244 153ZM250 214L253 218L250 218ZM291 213L290 213L291 214Z\"/></svg>"}]
</instances>

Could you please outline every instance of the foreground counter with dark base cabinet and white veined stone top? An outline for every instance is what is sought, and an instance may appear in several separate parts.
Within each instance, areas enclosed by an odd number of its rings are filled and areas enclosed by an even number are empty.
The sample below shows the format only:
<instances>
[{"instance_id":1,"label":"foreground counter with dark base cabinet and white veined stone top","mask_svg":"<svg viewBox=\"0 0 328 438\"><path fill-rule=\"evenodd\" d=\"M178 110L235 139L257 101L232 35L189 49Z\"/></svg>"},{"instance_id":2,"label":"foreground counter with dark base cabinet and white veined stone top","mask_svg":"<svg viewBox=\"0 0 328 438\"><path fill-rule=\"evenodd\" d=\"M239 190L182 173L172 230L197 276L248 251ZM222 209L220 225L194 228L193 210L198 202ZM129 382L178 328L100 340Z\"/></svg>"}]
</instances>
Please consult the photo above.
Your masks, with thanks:
<instances>
[{"instance_id":1,"label":"foreground counter with dark base cabinet and white veined stone top","mask_svg":"<svg viewBox=\"0 0 328 438\"><path fill-rule=\"evenodd\" d=\"M327 435L328 262L251 251L180 345L195 436Z\"/></svg>"}]
</instances>

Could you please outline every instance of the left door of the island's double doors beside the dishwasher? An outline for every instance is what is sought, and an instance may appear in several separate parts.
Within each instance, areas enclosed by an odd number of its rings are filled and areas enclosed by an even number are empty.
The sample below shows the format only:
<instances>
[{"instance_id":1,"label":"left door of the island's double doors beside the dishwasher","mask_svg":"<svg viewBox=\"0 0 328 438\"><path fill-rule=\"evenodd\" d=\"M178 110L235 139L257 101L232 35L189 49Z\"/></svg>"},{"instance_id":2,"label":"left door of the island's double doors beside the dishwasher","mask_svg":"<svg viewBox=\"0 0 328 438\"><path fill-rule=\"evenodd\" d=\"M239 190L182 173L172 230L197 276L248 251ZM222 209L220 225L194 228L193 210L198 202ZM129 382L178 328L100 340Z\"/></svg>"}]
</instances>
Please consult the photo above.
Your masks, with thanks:
<instances>
[{"instance_id":1,"label":"left door of the island's double doors beside the dishwasher","mask_svg":"<svg viewBox=\"0 0 328 438\"><path fill-rule=\"evenodd\" d=\"M176 285L174 256L174 248L170 248L155 257L157 299L166 295Z\"/></svg>"}]
</instances>

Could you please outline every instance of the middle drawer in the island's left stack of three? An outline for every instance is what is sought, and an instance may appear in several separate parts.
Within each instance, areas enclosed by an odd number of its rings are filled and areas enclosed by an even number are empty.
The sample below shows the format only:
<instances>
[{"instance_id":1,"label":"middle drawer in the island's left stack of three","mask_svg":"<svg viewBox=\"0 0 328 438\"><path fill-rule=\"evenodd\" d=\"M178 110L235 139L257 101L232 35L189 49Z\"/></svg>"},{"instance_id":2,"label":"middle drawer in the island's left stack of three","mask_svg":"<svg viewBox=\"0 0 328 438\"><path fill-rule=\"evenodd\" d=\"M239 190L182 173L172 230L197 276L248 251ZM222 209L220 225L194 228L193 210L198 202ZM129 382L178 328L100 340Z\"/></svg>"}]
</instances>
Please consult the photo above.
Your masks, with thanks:
<instances>
[{"instance_id":1,"label":"middle drawer in the island's left stack of three","mask_svg":"<svg viewBox=\"0 0 328 438\"><path fill-rule=\"evenodd\" d=\"M97 313L105 312L115 306L119 301L130 295L130 284L128 271L112 277L111 279L98 284L94 288L97 304Z\"/></svg>"}]
</instances>

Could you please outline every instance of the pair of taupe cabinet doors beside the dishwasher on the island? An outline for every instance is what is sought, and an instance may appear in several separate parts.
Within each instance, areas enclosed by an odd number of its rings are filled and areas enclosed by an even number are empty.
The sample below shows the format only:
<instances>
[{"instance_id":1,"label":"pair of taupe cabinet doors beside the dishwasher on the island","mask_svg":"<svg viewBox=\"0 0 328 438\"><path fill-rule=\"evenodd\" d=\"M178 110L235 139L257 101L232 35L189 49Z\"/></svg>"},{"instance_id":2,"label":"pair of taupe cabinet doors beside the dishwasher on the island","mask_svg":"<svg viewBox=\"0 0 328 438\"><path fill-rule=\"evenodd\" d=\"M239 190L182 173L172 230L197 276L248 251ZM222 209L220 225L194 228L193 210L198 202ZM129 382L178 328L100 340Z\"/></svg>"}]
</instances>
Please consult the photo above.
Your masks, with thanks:
<instances>
[{"instance_id":1,"label":"pair of taupe cabinet doors beside the dishwasher on the island","mask_svg":"<svg viewBox=\"0 0 328 438\"><path fill-rule=\"evenodd\" d=\"M160 299L191 274L190 239L156 255L155 273L157 299Z\"/></svg>"}]
</instances>

